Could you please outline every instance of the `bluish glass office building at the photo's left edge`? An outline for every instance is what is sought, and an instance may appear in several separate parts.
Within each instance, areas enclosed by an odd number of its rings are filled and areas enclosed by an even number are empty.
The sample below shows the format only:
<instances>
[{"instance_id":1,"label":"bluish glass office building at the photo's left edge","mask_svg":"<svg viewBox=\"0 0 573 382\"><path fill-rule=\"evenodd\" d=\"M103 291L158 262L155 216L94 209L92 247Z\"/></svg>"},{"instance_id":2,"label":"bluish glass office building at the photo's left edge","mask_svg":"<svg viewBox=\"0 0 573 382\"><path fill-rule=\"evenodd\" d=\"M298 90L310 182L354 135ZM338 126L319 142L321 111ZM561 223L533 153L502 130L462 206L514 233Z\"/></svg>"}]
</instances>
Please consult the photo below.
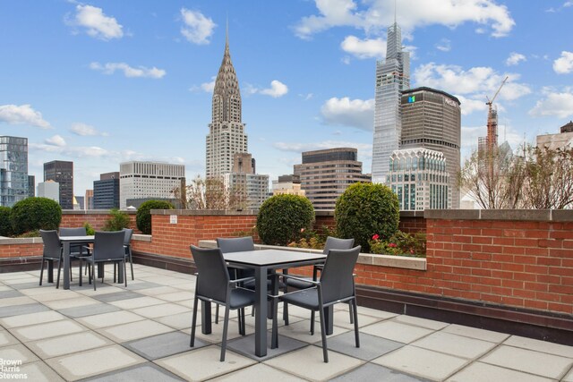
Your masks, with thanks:
<instances>
[{"instance_id":1,"label":"bluish glass office building at the photo's left edge","mask_svg":"<svg viewBox=\"0 0 573 382\"><path fill-rule=\"evenodd\" d=\"M28 198L28 139L0 137L0 206Z\"/></svg>"}]
</instances>

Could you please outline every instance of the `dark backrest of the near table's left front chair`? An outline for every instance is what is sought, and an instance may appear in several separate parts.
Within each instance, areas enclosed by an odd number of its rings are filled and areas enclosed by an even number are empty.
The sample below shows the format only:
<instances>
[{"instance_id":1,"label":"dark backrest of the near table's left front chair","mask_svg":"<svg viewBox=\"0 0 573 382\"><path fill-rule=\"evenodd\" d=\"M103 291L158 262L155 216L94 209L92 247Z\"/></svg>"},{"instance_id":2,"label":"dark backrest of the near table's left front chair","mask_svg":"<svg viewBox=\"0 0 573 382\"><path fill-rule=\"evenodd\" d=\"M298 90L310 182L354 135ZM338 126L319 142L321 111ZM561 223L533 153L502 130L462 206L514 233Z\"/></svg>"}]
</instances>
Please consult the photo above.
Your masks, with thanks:
<instances>
[{"instance_id":1,"label":"dark backrest of the near table's left front chair","mask_svg":"<svg viewBox=\"0 0 573 382\"><path fill-rule=\"evenodd\" d=\"M227 301L229 272L223 253L218 248L207 249L191 246L191 253L197 271L195 293L216 301Z\"/></svg>"}]
</instances>

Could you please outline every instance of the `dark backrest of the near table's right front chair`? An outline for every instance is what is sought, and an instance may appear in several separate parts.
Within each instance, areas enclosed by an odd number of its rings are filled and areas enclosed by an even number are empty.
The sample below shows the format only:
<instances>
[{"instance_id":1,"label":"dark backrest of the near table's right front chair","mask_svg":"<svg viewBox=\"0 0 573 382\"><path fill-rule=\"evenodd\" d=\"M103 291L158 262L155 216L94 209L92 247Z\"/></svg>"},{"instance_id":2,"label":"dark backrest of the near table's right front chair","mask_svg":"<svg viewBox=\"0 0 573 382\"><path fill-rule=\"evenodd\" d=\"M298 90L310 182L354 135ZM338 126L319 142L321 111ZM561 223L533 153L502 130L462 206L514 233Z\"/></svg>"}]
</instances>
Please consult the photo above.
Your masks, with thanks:
<instances>
[{"instance_id":1,"label":"dark backrest of the near table's right front chair","mask_svg":"<svg viewBox=\"0 0 573 382\"><path fill-rule=\"evenodd\" d=\"M330 250L321 272L322 302L350 297L355 293L353 272L360 245L350 250Z\"/></svg>"}]
</instances>

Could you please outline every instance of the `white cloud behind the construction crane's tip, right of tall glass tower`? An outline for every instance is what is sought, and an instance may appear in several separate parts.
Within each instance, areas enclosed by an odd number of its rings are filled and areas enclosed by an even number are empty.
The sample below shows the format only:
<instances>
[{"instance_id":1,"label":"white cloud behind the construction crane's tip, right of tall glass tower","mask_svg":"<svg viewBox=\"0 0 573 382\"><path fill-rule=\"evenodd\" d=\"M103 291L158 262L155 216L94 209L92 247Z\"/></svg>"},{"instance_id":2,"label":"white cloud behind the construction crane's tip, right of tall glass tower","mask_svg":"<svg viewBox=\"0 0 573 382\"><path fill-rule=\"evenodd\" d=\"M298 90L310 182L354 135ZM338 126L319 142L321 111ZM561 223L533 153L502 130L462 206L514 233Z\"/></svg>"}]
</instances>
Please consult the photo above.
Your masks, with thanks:
<instances>
[{"instance_id":1,"label":"white cloud behind the construction crane's tip, right of tall glass tower","mask_svg":"<svg viewBox=\"0 0 573 382\"><path fill-rule=\"evenodd\" d=\"M457 65L429 63L417 67L413 78L423 86L444 89L452 94L472 95L475 99L492 97L500 89L506 75L509 80L501 88L500 99L511 101L531 93L526 84L514 82L519 79L519 74L498 73L485 66L464 70Z\"/></svg>"}]
</instances>

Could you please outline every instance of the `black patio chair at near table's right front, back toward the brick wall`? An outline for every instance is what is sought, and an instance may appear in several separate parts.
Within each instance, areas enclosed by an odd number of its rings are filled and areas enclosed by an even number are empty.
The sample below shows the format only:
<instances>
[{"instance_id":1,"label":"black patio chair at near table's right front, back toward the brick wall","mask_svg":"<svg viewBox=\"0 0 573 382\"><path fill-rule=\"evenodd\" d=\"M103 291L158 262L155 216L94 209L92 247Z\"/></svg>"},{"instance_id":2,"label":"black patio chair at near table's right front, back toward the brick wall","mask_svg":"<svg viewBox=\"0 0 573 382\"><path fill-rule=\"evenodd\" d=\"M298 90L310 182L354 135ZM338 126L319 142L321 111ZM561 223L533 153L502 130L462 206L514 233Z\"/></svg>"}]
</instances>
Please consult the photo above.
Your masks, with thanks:
<instances>
[{"instance_id":1,"label":"black patio chair at near table's right front, back toward the brick wall","mask_svg":"<svg viewBox=\"0 0 573 382\"><path fill-rule=\"evenodd\" d=\"M306 288L295 292L273 296L274 311L277 311L278 300L288 302L304 309L311 310L311 335L314 334L314 312L318 311L321 321L322 355L324 361L329 361L328 346L326 341L326 327L324 322L324 308L335 305L338 302L349 302L353 305L355 324L355 344L360 347L358 333L358 313L356 310L356 290L354 268L360 246L350 250L329 250L329 257L324 263L319 281L308 281L312 288ZM287 279L299 279L299 277L284 275ZM272 318L272 344L278 346L277 315Z\"/></svg>"}]
</instances>

